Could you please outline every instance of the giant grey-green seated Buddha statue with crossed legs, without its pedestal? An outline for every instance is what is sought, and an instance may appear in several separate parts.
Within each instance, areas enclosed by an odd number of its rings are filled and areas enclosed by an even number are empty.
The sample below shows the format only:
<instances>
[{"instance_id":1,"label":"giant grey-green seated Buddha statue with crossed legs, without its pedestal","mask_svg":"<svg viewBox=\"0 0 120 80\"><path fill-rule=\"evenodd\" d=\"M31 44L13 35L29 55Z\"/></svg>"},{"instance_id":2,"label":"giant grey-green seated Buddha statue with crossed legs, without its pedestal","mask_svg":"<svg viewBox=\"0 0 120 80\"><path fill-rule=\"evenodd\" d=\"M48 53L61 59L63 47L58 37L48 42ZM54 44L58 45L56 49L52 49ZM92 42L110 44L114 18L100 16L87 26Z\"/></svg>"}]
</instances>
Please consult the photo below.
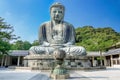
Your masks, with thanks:
<instances>
[{"instance_id":1,"label":"giant grey-green seated Buddha statue with crossed legs, without its pedestal","mask_svg":"<svg viewBox=\"0 0 120 80\"><path fill-rule=\"evenodd\" d=\"M54 3L50 7L51 21L40 26L39 42L41 45L32 46L29 53L52 54L55 49L64 50L70 55L86 55L82 46L75 46L74 27L64 21L65 7L61 3Z\"/></svg>"}]
</instances>

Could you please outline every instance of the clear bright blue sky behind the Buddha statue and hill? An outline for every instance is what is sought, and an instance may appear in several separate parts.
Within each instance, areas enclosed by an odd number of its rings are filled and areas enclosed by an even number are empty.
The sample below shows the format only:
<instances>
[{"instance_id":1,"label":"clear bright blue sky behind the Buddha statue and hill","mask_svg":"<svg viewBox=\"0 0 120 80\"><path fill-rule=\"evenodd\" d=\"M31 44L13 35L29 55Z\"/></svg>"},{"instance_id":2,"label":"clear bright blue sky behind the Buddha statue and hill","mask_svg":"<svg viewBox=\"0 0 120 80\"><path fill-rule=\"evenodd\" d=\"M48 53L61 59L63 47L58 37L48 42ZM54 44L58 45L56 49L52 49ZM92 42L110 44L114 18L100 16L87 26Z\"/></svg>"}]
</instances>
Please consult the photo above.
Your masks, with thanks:
<instances>
[{"instance_id":1,"label":"clear bright blue sky behind the Buddha statue and hill","mask_svg":"<svg viewBox=\"0 0 120 80\"><path fill-rule=\"evenodd\" d=\"M120 0L0 0L0 17L14 27L21 40L33 42L40 24L50 20L49 7L54 2L65 6L64 20L75 28L112 27L120 32Z\"/></svg>"}]
</instances>

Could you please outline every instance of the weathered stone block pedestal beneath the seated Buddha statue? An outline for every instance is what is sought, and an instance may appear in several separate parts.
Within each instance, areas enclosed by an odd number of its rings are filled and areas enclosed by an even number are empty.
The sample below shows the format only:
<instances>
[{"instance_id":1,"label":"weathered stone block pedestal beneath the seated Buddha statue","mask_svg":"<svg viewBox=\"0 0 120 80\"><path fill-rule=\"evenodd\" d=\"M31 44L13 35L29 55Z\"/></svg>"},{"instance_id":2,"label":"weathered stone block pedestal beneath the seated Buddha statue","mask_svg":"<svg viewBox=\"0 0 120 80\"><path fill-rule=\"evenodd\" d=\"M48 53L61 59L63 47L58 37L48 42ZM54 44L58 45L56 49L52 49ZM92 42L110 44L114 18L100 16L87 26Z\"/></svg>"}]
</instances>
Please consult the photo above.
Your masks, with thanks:
<instances>
[{"instance_id":1,"label":"weathered stone block pedestal beneath the seated Buddha statue","mask_svg":"<svg viewBox=\"0 0 120 80\"><path fill-rule=\"evenodd\" d=\"M86 56L67 55L63 65L72 70L89 68L91 63ZM51 70L54 66L54 58L53 55L27 55L24 57L24 66L31 67L32 70Z\"/></svg>"}]
</instances>

